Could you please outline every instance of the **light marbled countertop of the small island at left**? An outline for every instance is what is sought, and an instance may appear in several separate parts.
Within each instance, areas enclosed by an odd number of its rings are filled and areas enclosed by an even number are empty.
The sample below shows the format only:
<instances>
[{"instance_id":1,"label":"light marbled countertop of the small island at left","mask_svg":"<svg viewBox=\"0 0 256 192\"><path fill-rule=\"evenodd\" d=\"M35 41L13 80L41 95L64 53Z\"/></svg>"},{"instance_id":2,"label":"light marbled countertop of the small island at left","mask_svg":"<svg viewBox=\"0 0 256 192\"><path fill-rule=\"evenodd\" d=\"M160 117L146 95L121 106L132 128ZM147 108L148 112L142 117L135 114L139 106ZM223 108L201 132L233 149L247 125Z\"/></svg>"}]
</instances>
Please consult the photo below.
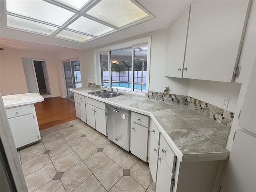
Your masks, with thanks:
<instances>
[{"instance_id":1,"label":"light marbled countertop of the small island at left","mask_svg":"<svg viewBox=\"0 0 256 192\"><path fill-rule=\"evenodd\" d=\"M2 98L5 108L37 103L44 100L44 98L38 93L6 95L2 96Z\"/></svg>"}]
</instances>

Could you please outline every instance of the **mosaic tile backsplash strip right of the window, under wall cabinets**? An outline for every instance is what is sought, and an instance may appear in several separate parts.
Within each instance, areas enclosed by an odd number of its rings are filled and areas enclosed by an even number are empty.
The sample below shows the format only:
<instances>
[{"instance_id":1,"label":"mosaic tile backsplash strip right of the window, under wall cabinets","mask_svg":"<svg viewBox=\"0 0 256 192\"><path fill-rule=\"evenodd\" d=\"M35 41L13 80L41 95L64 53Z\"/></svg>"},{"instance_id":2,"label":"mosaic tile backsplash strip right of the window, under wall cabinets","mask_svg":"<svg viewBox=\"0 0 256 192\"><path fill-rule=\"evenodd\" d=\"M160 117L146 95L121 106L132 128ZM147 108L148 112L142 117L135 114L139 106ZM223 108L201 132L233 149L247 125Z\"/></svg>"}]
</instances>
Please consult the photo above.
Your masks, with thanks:
<instances>
[{"instance_id":1,"label":"mosaic tile backsplash strip right of the window, under wall cabinets","mask_svg":"<svg viewBox=\"0 0 256 192\"><path fill-rule=\"evenodd\" d=\"M187 105L189 108L196 110L204 114L205 116L216 120L217 122L220 122L228 128L231 127L233 122L234 112L230 112L212 104L192 98L190 96L150 91L148 94L146 94L146 97L166 102L175 102L178 104Z\"/></svg>"}]
</instances>

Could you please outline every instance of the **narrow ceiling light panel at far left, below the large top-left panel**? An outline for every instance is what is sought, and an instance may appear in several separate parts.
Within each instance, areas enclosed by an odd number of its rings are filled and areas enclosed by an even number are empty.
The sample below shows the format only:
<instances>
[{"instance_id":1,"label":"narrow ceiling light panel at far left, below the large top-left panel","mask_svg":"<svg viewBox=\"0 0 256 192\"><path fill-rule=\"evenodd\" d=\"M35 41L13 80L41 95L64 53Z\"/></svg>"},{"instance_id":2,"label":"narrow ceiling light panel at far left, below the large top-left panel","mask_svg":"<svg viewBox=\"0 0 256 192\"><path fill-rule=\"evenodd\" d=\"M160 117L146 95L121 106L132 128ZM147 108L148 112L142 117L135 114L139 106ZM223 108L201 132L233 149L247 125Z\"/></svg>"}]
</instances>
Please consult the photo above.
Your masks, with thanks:
<instances>
[{"instance_id":1,"label":"narrow ceiling light panel at far left, below the large top-left panel","mask_svg":"<svg viewBox=\"0 0 256 192\"><path fill-rule=\"evenodd\" d=\"M7 26L47 35L51 35L54 31L58 29L50 25L26 20L11 15L7 15Z\"/></svg>"}]
</instances>

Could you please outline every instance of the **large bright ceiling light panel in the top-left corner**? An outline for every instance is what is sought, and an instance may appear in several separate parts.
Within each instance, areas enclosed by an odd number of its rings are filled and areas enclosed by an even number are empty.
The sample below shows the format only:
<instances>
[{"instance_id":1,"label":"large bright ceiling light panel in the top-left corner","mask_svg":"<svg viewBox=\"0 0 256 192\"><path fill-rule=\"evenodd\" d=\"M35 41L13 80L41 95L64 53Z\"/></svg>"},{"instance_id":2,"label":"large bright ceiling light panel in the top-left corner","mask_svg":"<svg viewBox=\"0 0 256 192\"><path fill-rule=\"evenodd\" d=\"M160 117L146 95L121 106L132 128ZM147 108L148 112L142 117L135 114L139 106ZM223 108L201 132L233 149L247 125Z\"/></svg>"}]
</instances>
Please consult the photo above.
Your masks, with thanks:
<instances>
[{"instance_id":1,"label":"large bright ceiling light panel in the top-left corner","mask_svg":"<svg viewBox=\"0 0 256 192\"><path fill-rule=\"evenodd\" d=\"M6 10L59 26L74 15L73 12L42 0L6 0Z\"/></svg>"}]
</instances>

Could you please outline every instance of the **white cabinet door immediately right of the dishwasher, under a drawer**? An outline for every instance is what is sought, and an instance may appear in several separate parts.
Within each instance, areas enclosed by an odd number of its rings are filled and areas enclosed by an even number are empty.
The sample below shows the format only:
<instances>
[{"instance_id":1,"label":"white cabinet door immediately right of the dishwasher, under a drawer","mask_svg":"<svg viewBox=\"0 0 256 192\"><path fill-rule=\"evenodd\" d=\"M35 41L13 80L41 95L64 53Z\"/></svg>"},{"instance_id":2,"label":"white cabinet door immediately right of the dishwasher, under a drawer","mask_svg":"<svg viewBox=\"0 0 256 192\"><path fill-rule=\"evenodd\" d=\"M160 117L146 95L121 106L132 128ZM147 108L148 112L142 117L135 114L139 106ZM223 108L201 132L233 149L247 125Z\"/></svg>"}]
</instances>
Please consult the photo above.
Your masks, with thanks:
<instances>
[{"instance_id":1,"label":"white cabinet door immediately right of the dishwasher, under a drawer","mask_svg":"<svg viewBox=\"0 0 256 192\"><path fill-rule=\"evenodd\" d=\"M130 151L132 154L147 162L148 128L131 123Z\"/></svg>"}]
</instances>

